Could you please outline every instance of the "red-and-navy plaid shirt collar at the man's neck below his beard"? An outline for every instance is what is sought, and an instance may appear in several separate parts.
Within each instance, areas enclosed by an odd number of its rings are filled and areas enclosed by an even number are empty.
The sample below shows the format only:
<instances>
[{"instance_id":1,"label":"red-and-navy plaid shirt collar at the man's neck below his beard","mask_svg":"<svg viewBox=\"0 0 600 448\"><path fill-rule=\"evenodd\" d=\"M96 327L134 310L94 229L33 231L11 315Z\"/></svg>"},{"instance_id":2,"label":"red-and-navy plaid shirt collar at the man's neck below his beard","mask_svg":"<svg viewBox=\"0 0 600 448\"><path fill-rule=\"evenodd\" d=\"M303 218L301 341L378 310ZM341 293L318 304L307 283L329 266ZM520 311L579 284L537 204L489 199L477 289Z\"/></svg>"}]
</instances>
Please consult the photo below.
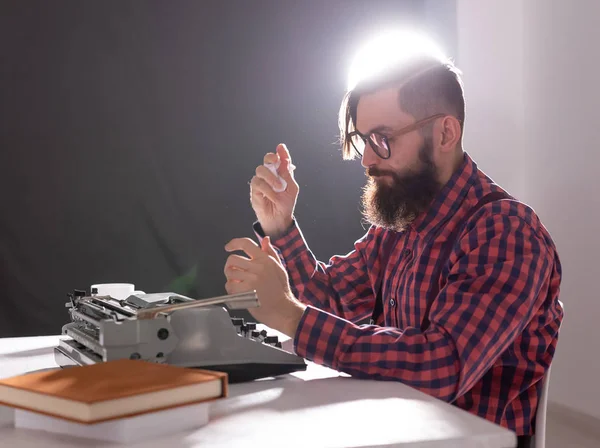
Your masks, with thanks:
<instances>
[{"instance_id":1,"label":"red-and-navy plaid shirt collar at the man's neck below his beard","mask_svg":"<svg viewBox=\"0 0 600 448\"><path fill-rule=\"evenodd\" d=\"M453 216L460 208L476 178L477 164L465 152L464 160L459 169L454 172L450 180L436 195L429 209L421 213L411 223L411 228L424 237Z\"/></svg>"}]
</instances>

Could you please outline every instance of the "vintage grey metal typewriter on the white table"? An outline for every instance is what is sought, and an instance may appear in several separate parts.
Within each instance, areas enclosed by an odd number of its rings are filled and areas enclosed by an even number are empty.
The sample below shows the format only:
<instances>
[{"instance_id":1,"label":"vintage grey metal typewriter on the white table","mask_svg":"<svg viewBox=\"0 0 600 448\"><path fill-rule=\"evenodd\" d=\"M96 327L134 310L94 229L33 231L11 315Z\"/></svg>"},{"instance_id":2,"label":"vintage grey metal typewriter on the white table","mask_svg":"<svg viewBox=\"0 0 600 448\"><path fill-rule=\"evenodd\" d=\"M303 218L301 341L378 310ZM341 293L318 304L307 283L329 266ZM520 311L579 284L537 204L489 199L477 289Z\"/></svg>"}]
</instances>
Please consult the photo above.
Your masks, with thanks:
<instances>
[{"instance_id":1,"label":"vintage grey metal typewriter on the white table","mask_svg":"<svg viewBox=\"0 0 600 448\"><path fill-rule=\"evenodd\" d=\"M54 349L61 367L143 359L227 372L230 383L306 370L305 360L284 350L277 336L230 316L225 306L258 306L254 291L203 300L174 293L119 300L94 292L68 295L71 322Z\"/></svg>"}]
</instances>

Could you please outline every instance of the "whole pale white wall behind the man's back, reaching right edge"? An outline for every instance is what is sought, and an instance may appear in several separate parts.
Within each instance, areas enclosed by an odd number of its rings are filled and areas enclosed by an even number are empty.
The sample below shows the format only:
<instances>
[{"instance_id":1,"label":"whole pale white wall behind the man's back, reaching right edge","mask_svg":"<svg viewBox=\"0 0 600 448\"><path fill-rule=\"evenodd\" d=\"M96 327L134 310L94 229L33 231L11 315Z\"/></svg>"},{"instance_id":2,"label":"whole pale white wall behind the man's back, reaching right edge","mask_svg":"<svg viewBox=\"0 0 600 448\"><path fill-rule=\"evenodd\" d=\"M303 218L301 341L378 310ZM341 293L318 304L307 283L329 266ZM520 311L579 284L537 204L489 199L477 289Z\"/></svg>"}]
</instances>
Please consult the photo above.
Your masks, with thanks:
<instances>
[{"instance_id":1,"label":"whole pale white wall behind the man's back, reaching right edge","mask_svg":"<svg viewBox=\"0 0 600 448\"><path fill-rule=\"evenodd\" d=\"M465 145L563 265L550 401L600 418L600 1L457 0Z\"/></svg>"}]
</instances>

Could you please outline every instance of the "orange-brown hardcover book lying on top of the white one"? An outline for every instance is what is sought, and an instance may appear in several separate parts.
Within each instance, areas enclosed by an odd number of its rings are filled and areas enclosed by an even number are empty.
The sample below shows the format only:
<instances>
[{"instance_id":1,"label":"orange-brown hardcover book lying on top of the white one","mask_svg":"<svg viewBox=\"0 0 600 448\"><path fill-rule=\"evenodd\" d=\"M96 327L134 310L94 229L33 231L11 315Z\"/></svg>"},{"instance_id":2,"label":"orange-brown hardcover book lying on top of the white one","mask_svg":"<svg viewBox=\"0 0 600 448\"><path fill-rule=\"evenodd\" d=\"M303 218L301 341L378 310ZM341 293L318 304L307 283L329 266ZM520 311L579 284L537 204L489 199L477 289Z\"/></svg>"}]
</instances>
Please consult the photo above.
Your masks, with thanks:
<instances>
[{"instance_id":1,"label":"orange-brown hardcover book lying on top of the white one","mask_svg":"<svg viewBox=\"0 0 600 448\"><path fill-rule=\"evenodd\" d=\"M0 404L95 424L224 398L227 374L119 359L0 380Z\"/></svg>"}]
</instances>

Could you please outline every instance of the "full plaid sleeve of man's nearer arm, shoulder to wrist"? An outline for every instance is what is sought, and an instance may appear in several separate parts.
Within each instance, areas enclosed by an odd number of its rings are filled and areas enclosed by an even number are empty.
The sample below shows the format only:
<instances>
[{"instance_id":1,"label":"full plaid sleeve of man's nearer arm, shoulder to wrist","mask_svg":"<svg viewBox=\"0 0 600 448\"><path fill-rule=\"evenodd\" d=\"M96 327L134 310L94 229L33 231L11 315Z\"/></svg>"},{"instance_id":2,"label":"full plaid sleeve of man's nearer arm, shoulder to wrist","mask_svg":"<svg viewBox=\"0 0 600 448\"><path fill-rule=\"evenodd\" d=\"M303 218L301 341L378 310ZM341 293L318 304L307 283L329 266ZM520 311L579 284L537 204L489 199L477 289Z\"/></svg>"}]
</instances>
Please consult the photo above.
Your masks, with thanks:
<instances>
[{"instance_id":1,"label":"full plaid sleeve of man's nearer arm, shoulder to wrist","mask_svg":"<svg viewBox=\"0 0 600 448\"><path fill-rule=\"evenodd\" d=\"M294 337L298 355L355 377L396 380L453 401L513 343L541 307L553 252L518 216L488 216L461 236L430 326L358 326L308 307ZM540 345L550 344L538 340Z\"/></svg>"}]
</instances>

